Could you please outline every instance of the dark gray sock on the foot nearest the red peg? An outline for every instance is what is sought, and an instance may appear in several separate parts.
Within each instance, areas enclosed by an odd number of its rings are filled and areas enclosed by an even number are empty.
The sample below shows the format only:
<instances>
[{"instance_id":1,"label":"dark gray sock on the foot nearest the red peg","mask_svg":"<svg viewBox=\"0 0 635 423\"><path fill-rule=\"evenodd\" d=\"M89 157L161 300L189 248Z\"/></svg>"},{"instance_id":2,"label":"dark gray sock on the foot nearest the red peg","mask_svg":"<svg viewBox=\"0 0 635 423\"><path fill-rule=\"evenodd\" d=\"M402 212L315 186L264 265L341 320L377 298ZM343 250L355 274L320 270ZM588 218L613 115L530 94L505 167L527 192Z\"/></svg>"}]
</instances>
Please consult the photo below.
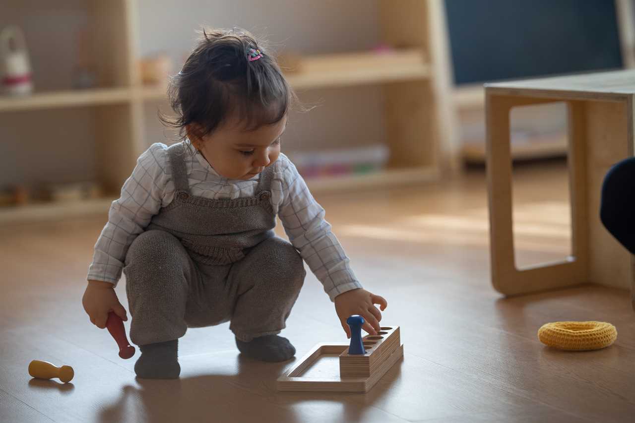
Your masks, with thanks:
<instances>
[{"instance_id":1,"label":"dark gray sock on the foot nearest the red peg","mask_svg":"<svg viewBox=\"0 0 635 423\"><path fill-rule=\"evenodd\" d=\"M139 346L141 356L135 363L137 377L143 379L178 379L178 339Z\"/></svg>"}]
</instances>

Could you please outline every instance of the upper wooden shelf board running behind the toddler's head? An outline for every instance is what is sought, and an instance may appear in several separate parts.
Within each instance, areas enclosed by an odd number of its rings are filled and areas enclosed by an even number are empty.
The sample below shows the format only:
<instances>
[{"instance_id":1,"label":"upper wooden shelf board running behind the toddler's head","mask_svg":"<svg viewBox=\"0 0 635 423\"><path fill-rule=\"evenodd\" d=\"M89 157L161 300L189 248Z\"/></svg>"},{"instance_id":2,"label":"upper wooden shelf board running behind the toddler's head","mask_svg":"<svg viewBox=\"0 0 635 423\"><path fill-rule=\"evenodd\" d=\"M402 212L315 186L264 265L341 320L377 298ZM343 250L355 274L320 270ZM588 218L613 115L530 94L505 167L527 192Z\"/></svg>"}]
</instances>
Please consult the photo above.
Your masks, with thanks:
<instances>
[{"instance_id":1,"label":"upper wooden shelf board running behind the toddler's head","mask_svg":"<svg viewBox=\"0 0 635 423\"><path fill-rule=\"evenodd\" d=\"M421 50L404 49L387 53L373 51L313 55L298 62L298 70L285 72L295 90L354 86L396 81L427 79L430 67ZM135 95L145 100L163 100L166 88L144 86L135 88Z\"/></svg>"}]
</instances>

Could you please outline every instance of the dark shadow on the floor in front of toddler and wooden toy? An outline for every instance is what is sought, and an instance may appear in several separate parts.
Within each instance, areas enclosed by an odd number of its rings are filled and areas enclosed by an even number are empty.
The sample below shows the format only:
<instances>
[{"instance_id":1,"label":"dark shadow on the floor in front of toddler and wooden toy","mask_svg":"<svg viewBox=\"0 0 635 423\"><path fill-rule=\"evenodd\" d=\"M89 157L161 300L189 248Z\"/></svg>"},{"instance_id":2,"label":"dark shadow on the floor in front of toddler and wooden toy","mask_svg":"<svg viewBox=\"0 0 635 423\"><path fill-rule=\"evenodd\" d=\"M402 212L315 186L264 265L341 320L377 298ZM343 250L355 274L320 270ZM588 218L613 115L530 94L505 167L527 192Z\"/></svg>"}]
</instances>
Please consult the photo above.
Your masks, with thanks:
<instances>
[{"instance_id":1,"label":"dark shadow on the floor in front of toddler and wooden toy","mask_svg":"<svg viewBox=\"0 0 635 423\"><path fill-rule=\"evenodd\" d=\"M388 421L393 416L373 404L381 402L399 379L402 362L403 358L366 394L278 393L276 379L289 362L263 365L237 355L233 366L224 368L232 374L135 379L136 386L123 386L116 401L100 408L98 421L358 422L369 414L373 420Z\"/></svg>"}]
</instances>

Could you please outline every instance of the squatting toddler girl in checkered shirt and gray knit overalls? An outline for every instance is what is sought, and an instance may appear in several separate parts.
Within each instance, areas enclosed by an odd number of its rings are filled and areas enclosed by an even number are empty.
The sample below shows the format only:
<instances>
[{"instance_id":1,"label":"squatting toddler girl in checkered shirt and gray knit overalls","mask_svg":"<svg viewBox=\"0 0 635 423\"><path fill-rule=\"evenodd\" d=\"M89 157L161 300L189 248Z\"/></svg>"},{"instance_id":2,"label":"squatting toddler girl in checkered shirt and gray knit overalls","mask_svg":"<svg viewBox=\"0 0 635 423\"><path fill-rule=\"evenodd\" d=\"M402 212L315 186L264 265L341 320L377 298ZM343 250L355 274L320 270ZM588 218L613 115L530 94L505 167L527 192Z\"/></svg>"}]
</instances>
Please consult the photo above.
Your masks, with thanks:
<instances>
[{"instance_id":1,"label":"squatting toddler girl in checkered shirt and gray knit overalls","mask_svg":"<svg viewBox=\"0 0 635 423\"><path fill-rule=\"evenodd\" d=\"M277 333L304 283L302 258L347 336L351 314L366 332L380 330L374 304L384 310L386 301L361 288L323 208L280 152L292 98L274 59L238 30L204 31L173 77L177 117L163 121L183 140L138 158L110 206L83 297L99 328L109 311L127 320L113 289L124 272L138 377L177 378L178 338L226 321L245 356L292 358ZM276 215L291 243L274 235Z\"/></svg>"}]
</instances>

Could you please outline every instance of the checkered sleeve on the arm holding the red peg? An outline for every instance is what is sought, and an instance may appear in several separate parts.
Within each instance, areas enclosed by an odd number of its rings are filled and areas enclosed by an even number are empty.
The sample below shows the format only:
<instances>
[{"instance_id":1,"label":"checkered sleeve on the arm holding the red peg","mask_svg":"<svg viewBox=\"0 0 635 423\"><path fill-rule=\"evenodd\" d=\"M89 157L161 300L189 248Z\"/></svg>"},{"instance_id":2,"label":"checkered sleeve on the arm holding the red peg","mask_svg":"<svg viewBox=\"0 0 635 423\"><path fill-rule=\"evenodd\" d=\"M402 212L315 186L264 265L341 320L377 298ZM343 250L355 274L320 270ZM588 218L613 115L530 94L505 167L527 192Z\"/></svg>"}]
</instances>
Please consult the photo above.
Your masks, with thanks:
<instances>
[{"instance_id":1,"label":"checkered sleeve on the arm holding the red peg","mask_svg":"<svg viewBox=\"0 0 635 423\"><path fill-rule=\"evenodd\" d=\"M112 202L108 222L95 244L88 279L112 282L121 278L126 252L144 231L166 198L166 145L152 144L137 160L137 165Z\"/></svg>"}]
</instances>

